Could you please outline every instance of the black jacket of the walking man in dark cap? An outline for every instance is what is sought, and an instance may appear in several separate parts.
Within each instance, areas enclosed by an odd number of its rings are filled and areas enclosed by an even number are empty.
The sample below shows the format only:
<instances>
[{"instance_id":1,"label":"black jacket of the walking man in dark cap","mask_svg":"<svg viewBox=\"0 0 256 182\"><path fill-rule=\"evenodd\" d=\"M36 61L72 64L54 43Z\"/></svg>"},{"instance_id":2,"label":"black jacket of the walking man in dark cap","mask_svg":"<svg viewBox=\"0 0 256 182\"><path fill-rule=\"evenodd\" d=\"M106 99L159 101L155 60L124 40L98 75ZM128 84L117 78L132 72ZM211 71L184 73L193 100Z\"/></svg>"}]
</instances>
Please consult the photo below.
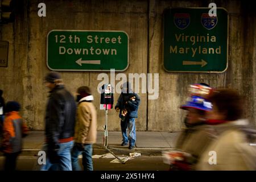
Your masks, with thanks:
<instances>
[{"instance_id":1,"label":"black jacket of the walking man in dark cap","mask_svg":"<svg viewBox=\"0 0 256 182\"><path fill-rule=\"evenodd\" d=\"M64 85L49 92L46 107L46 139L49 147L57 149L59 139L73 137L75 132L76 102Z\"/></svg>"}]
</instances>

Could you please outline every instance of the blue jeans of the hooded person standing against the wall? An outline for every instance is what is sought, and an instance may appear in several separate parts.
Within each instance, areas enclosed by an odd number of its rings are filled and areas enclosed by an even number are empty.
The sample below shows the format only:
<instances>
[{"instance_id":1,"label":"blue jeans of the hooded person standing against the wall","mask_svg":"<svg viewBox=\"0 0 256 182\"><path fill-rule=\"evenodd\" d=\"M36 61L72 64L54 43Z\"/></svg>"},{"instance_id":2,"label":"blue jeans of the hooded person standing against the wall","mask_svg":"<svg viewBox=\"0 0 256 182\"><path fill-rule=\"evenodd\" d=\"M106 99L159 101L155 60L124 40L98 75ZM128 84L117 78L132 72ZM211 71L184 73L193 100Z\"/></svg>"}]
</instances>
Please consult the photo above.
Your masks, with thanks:
<instances>
[{"instance_id":1,"label":"blue jeans of the hooded person standing against the wall","mask_svg":"<svg viewBox=\"0 0 256 182\"><path fill-rule=\"evenodd\" d=\"M127 137L127 129L129 130L129 135ZM125 118L125 121L121 121L121 131L123 142L130 143L130 146L135 145L136 141L136 131L135 131L135 118Z\"/></svg>"}]
</instances>

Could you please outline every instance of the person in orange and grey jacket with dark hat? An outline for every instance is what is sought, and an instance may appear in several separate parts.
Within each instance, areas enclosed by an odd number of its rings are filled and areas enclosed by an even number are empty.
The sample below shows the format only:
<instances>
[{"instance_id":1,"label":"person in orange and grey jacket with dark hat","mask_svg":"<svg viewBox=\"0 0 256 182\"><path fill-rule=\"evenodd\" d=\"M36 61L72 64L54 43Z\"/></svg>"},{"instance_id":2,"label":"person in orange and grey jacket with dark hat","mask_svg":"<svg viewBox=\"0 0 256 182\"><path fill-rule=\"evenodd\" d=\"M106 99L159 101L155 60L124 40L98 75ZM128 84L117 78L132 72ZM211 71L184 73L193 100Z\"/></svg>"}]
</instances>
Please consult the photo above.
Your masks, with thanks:
<instances>
[{"instance_id":1,"label":"person in orange and grey jacket with dark hat","mask_svg":"<svg viewBox=\"0 0 256 182\"><path fill-rule=\"evenodd\" d=\"M2 151L5 154L5 170L14 171L16 160L22 151L22 138L26 137L28 129L19 115L20 105L10 101L6 104L6 118L3 122Z\"/></svg>"}]
</instances>

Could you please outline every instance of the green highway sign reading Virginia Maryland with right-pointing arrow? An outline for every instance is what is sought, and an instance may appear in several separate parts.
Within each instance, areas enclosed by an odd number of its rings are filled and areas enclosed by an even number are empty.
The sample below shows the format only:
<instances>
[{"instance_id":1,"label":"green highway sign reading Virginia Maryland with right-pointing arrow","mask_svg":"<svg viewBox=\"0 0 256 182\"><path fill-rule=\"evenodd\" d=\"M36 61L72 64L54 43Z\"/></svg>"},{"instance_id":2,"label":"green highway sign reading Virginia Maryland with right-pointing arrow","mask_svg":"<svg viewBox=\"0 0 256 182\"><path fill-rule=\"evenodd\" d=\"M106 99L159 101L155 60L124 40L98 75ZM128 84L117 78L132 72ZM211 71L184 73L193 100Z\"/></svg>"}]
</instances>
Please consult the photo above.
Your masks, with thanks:
<instances>
[{"instance_id":1,"label":"green highway sign reading Virginia Maryland with right-pointing arrow","mask_svg":"<svg viewBox=\"0 0 256 182\"><path fill-rule=\"evenodd\" d=\"M163 67L167 72L217 72L228 68L228 12L217 8L164 11Z\"/></svg>"}]
</instances>

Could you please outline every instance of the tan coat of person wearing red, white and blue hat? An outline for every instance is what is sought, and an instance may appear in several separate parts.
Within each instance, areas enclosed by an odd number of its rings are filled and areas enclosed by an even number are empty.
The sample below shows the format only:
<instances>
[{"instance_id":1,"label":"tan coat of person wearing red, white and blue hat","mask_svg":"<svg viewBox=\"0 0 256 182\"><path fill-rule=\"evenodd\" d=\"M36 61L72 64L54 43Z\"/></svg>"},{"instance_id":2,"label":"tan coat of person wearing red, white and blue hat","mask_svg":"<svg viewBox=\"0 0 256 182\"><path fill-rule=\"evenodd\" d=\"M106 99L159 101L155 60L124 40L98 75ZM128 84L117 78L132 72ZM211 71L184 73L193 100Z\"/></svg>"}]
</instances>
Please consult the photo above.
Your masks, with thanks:
<instances>
[{"instance_id":1,"label":"tan coat of person wearing red, white and blue hat","mask_svg":"<svg viewBox=\"0 0 256 182\"><path fill-rule=\"evenodd\" d=\"M199 159L212 140L211 126L198 125L181 132L176 141L178 150L188 152Z\"/></svg>"}]
</instances>

